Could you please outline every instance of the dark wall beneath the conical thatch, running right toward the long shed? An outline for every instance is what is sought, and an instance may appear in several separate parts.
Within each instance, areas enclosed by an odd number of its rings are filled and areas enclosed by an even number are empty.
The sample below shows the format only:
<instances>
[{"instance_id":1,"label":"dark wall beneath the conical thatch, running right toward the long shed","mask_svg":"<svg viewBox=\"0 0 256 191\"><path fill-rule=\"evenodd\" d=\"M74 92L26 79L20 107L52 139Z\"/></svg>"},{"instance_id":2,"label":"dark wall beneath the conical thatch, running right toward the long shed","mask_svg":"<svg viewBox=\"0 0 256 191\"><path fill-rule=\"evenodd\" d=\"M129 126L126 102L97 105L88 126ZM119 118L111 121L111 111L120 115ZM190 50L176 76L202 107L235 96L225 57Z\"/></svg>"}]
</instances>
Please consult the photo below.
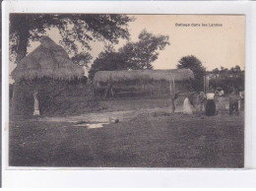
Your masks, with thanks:
<instances>
[{"instance_id":1,"label":"dark wall beneath the conical thatch, running right toward the long shed","mask_svg":"<svg viewBox=\"0 0 256 191\"><path fill-rule=\"evenodd\" d=\"M94 104L93 90L80 81L33 80L15 84L11 110L13 115L32 116L34 89L37 89L42 115L76 114Z\"/></svg>"}]
</instances>

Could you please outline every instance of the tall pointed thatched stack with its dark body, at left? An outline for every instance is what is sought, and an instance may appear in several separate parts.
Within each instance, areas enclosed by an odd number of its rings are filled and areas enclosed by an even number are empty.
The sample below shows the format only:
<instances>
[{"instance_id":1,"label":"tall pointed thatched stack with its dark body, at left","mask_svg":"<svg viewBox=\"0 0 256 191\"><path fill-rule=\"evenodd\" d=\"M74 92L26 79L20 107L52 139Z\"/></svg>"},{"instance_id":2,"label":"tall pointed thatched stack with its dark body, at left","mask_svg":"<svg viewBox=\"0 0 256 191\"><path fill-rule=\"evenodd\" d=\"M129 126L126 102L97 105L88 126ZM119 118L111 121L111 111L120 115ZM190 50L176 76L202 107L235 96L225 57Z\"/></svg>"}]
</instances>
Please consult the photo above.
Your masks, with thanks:
<instances>
[{"instance_id":1,"label":"tall pointed thatched stack with its dark body, at left","mask_svg":"<svg viewBox=\"0 0 256 191\"><path fill-rule=\"evenodd\" d=\"M13 114L38 115L61 109L62 102L57 104L56 96L65 95L72 82L82 79L84 69L74 64L61 46L42 36L40 45L18 63L12 77Z\"/></svg>"}]
</instances>

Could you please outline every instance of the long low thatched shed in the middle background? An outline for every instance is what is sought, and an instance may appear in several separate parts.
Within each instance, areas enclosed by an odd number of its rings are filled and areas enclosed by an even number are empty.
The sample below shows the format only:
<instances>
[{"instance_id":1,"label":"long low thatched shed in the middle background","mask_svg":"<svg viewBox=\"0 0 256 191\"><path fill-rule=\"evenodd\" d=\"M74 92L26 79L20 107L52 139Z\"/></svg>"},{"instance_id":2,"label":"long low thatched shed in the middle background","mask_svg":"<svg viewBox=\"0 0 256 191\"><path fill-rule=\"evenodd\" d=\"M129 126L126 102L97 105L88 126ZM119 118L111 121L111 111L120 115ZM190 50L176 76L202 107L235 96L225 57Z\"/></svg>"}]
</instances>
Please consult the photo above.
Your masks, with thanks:
<instances>
[{"instance_id":1,"label":"long low thatched shed in the middle background","mask_svg":"<svg viewBox=\"0 0 256 191\"><path fill-rule=\"evenodd\" d=\"M94 78L95 96L163 96L170 85L180 93L192 92L194 73L189 69L98 71Z\"/></svg>"}]
</instances>

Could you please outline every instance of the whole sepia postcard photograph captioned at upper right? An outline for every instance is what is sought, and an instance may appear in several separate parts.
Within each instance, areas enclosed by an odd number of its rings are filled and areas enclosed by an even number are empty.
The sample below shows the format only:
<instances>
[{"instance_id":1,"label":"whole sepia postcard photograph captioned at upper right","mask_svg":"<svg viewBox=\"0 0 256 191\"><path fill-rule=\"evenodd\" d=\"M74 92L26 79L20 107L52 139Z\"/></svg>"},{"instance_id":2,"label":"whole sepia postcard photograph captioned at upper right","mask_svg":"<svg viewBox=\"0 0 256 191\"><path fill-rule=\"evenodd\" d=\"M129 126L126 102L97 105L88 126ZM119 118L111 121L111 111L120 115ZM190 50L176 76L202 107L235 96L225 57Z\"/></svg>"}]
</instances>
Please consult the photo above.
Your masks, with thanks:
<instances>
[{"instance_id":1,"label":"whole sepia postcard photograph captioned at upper right","mask_svg":"<svg viewBox=\"0 0 256 191\"><path fill-rule=\"evenodd\" d=\"M244 15L9 15L9 166L243 168Z\"/></svg>"}]
</instances>

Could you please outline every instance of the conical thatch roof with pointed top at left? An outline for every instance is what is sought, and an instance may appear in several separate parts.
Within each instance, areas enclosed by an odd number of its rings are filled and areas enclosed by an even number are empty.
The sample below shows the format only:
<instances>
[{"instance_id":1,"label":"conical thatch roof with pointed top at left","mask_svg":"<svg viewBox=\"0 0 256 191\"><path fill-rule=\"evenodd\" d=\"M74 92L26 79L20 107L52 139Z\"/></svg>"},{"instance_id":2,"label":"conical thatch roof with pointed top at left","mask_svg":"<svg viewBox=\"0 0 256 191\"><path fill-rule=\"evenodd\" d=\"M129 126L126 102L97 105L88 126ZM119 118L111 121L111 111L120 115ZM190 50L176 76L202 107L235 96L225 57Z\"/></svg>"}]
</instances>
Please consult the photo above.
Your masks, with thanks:
<instances>
[{"instance_id":1,"label":"conical thatch roof with pointed top at left","mask_svg":"<svg viewBox=\"0 0 256 191\"><path fill-rule=\"evenodd\" d=\"M72 80L84 76L84 69L74 64L67 52L48 36L40 38L40 45L18 63L12 72L14 80L52 78Z\"/></svg>"}]
</instances>

